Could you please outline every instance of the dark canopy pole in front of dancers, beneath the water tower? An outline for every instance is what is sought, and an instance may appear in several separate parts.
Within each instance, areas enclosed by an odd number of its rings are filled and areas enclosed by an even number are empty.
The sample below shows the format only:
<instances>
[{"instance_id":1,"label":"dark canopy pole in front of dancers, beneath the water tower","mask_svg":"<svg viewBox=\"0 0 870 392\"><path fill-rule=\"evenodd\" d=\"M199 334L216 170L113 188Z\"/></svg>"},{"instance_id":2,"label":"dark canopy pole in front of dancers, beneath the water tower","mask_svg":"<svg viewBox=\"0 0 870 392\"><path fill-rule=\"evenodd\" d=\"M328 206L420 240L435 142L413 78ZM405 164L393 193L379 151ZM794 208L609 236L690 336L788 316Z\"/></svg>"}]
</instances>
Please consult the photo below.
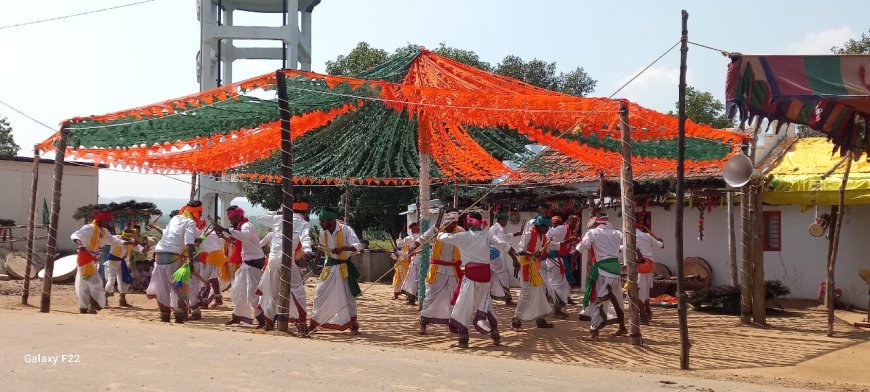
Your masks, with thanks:
<instances>
[{"instance_id":1,"label":"dark canopy pole in front of dancers, beneath the water tower","mask_svg":"<svg viewBox=\"0 0 870 392\"><path fill-rule=\"evenodd\" d=\"M295 260L293 248L293 141L290 134L290 102L287 98L287 76L283 70L275 74L278 82L278 115L281 119L281 283L278 286L276 328L289 332L290 281Z\"/></svg>"}]
</instances>

